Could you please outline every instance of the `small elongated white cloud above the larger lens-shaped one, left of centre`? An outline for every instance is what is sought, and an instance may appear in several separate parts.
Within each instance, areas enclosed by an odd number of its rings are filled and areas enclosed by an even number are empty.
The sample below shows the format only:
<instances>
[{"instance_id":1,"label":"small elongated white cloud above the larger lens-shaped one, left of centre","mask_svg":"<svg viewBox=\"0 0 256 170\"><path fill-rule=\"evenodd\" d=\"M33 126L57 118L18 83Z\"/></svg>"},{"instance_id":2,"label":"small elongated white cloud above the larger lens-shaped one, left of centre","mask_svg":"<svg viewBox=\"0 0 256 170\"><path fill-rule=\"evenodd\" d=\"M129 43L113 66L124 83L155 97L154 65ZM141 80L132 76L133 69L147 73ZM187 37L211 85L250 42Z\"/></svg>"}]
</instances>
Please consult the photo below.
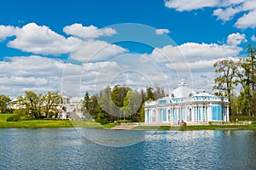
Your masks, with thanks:
<instances>
[{"instance_id":1,"label":"small elongated white cloud above the larger lens-shaped one, left of centre","mask_svg":"<svg viewBox=\"0 0 256 170\"><path fill-rule=\"evenodd\" d=\"M65 26L63 31L69 35L84 38L95 38L101 36L111 36L117 32L112 28L99 29L96 26L83 26L81 24L73 24L71 26Z\"/></svg>"}]
</instances>

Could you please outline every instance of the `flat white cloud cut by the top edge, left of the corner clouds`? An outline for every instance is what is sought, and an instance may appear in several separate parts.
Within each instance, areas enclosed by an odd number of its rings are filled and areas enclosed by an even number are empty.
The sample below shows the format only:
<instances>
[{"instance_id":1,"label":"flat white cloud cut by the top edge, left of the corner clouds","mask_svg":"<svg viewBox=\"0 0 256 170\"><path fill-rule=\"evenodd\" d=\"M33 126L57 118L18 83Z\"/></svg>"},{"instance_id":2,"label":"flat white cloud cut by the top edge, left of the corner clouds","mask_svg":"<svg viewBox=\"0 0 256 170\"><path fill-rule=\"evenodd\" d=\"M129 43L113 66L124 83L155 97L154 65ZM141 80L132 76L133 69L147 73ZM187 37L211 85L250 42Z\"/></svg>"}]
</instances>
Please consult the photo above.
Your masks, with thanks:
<instances>
[{"instance_id":1,"label":"flat white cloud cut by the top edge, left of the corner clouds","mask_svg":"<svg viewBox=\"0 0 256 170\"><path fill-rule=\"evenodd\" d=\"M167 8L175 8L177 11L190 11L193 9L216 7L218 0L167 0L165 5Z\"/></svg>"}]
</instances>

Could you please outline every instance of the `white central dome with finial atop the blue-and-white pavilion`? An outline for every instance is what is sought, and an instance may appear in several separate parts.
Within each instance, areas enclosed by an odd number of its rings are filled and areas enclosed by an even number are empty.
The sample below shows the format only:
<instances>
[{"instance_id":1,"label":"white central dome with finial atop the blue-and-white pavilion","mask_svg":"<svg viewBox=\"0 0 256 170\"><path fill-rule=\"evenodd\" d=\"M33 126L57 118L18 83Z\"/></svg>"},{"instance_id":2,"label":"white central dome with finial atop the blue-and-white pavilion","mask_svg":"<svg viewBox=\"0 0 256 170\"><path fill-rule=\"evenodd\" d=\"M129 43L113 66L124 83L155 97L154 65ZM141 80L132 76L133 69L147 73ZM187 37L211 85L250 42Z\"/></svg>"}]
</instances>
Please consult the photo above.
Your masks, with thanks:
<instances>
[{"instance_id":1,"label":"white central dome with finial atop the blue-and-white pavilion","mask_svg":"<svg viewBox=\"0 0 256 170\"><path fill-rule=\"evenodd\" d=\"M178 85L178 88L175 88L172 90L170 94L170 98L177 98L177 99L186 99L186 98L191 98L192 96L195 95L195 91L191 88L188 88L186 82L180 82Z\"/></svg>"}]
</instances>

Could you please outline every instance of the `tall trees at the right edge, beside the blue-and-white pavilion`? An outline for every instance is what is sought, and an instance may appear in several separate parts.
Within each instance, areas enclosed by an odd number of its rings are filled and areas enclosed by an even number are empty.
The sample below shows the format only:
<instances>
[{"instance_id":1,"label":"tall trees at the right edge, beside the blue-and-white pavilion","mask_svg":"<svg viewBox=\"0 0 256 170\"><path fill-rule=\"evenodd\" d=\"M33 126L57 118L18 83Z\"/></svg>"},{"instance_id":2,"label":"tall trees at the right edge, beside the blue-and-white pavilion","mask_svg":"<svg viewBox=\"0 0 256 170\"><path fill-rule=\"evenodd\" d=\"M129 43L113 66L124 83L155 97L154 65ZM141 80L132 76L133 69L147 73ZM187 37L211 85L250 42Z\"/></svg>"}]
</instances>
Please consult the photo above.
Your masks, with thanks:
<instances>
[{"instance_id":1,"label":"tall trees at the right edge, beside the blue-and-white pavilion","mask_svg":"<svg viewBox=\"0 0 256 170\"><path fill-rule=\"evenodd\" d=\"M217 95L225 95L230 99L231 116L253 116L256 111L256 47L247 44L247 57L237 61L233 59L219 60L214 63L214 90Z\"/></svg>"}]
</instances>

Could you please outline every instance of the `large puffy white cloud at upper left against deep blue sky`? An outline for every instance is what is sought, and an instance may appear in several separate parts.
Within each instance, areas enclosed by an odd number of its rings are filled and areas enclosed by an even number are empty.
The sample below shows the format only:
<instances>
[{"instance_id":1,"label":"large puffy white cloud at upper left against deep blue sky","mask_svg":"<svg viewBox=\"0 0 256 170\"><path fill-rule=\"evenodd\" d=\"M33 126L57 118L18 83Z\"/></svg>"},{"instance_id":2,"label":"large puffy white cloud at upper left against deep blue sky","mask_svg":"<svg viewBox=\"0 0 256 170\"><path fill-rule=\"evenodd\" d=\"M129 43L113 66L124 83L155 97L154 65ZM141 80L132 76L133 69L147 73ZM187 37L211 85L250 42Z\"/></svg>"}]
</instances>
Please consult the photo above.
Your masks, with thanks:
<instances>
[{"instance_id":1,"label":"large puffy white cloud at upper left against deep blue sky","mask_svg":"<svg viewBox=\"0 0 256 170\"><path fill-rule=\"evenodd\" d=\"M67 54L80 42L75 37L63 37L49 27L35 23L16 29L15 37L15 40L8 43L8 47L33 54Z\"/></svg>"}]
</instances>

